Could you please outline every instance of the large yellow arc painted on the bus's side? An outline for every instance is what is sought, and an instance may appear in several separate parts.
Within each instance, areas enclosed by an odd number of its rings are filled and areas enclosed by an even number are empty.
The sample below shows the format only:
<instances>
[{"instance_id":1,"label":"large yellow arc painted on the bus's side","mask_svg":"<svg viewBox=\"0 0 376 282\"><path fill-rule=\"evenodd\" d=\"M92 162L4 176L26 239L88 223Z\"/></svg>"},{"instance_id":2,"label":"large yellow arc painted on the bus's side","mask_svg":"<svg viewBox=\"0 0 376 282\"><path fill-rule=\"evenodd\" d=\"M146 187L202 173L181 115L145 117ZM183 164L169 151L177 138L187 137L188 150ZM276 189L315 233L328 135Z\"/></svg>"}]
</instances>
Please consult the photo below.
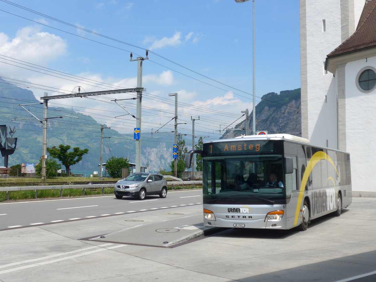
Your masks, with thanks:
<instances>
[{"instance_id":1,"label":"large yellow arc painted on the bus's side","mask_svg":"<svg viewBox=\"0 0 376 282\"><path fill-rule=\"evenodd\" d=\"M307 167L306 167L306 170L303 174L303 178L302 178L302 184L300 185L300 190L299 190L299 197L298 197L298 202L297 202L297 205L296 205L296 212L295 212L295 220L294 220L294 226L297 225L298 223L298 218L299 218L299 211L300 211L300 206L302 205L302 200L303 200L303 196L304 196L304 190L305 190L305 187L307 185L307 182L308 182L308 177L309 177L309 174L311 174L314 166L321 160L324 160L326 159L328 162L330 162L332 164L332 166L334 167L337 175L339 176L338 174L338 171L337 171L337 168L335 167L335 164L333 162L333 160L329 157L329 155L327 153L324 153L322 151L319 151L319 152L316 152L312 158L309 160L308 164L307 164Z\"/></svg>"}]
</instances>

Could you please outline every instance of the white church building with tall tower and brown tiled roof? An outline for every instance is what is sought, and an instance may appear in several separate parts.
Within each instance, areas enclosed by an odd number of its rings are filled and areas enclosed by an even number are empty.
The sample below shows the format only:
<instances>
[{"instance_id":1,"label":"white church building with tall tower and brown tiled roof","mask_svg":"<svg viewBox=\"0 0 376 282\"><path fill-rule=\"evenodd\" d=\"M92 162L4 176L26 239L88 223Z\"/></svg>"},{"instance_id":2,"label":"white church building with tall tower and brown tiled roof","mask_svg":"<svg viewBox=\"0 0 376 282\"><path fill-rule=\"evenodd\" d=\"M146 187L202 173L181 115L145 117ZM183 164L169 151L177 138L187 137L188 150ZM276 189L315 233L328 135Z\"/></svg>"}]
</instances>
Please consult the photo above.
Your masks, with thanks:
<instances>
[{"instance_id":1,"label":"white church building with tall tower and brown tiled roof","mask_svg":"<svg viewBox=\"0 0 376 282\"><path fill-rule=\"evenodd\" d=\"M376 197L376 0L300 0L300 65L302 137L349 152L353 196Z\"/></svg>"}]
</instances>

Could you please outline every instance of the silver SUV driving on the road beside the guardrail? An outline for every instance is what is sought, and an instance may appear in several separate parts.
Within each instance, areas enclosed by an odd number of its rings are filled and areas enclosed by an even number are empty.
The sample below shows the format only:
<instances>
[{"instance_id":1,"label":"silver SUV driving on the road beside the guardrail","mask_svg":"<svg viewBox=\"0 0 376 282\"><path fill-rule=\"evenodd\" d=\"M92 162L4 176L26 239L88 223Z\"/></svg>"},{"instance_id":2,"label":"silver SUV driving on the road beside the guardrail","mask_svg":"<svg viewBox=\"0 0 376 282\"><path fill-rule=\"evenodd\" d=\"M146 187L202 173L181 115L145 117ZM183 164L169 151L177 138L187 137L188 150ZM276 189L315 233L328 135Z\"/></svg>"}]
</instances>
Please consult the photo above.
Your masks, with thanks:
<instances>
[{"instance_id":1,"label":"silver SUV driving on the road beside the guardrail","mask_svg":"<svg viewBox=\"0 0 376 282\"><path fill-rule=\"evenodd\" d=\"M116 182L114 194L117 199L121 199L123 196L133 196L144 200L146 195L159 195L159 197L165 198L167 181L160 173L136 172Z\"/></svg>"}]
</instances>

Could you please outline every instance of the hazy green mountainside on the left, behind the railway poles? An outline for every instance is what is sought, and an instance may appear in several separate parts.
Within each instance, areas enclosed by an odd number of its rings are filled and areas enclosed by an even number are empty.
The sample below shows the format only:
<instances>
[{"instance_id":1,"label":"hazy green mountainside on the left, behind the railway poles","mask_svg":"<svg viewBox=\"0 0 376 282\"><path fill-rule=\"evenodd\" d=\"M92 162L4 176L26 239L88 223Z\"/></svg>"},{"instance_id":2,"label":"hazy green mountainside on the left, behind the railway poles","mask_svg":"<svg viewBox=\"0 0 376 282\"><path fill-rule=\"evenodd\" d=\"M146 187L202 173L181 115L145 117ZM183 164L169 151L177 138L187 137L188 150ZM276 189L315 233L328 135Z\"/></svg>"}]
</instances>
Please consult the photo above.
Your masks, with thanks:
<instances>
[{"instance_id":1,"label":"hazy green mountainside on the left, behind the railway poles","mask_svg":"<svg viewBox=\"0 0 376 282\"><path fill-rule=\"evenodd\" d=\"M27 105L26 104L33 104ZM20 105L27 109L27 112ZM34 118L33 115L36 117ZM76 111L52 107L48 108L47 147L70 145L71 148L89 149L81 162L71 166L73 171L98 171L100 160L100 139L102 124L89 115ZM50 118L58 116L64 118ZM72 118L76 117L76 118ZM37 119L38 118L38 119ZM15 129L13 137L17 137L17 149L9 156L8 167L22 163L38 163L42 155L42 123L43 105L35 99L33 92L19 88L0 80L0 124ZM12 120L14 120L12 122ZM105 126L106 127L106 126ZM9 136L9 133L8 133ZM116 130L105 129L105 136L117 138L103 138L103 162L111 156L128 158L135 162L135 141L133 134L120 134ZM171 140L171 141L170 141ZM156 139L144 133L141 149L141 165L149 164L150 171L159 171L168 168L172 161L171 138ZM168 148L168 149L167 149ZM3 159L3 158L2 158ZM3 160L0 166L3 165ZM64 168L64 167L63 167Z\"/></svg>"}]
</instances>

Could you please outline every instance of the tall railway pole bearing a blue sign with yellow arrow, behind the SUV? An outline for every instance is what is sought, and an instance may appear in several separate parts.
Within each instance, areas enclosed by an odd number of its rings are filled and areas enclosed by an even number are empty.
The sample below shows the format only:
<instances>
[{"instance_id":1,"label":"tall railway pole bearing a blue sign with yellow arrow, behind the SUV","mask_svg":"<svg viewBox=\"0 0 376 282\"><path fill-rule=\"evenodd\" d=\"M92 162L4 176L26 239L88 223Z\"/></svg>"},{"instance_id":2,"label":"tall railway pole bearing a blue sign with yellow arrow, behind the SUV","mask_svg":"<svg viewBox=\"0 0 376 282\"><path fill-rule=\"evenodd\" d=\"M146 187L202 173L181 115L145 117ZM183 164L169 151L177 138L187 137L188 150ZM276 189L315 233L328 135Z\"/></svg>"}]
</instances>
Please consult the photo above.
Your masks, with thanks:
<instances>
[{"instance_id":1,"label":"tall railway pole bearing a blue sign with yellow arrow, behind the SUV","mask_svg":"<svg viewBox=\"0 0 376 282\"><path fill-rule=\"evenodd\" d=\"M137 61L137 88L142 88L142 64L147 57L149 51L146 50L146 58L137 57L132 59L133 54L130 53L130 62ZM142 109L142 91L137 91L137 109L136 109L136 128L139 128L140 138L136 139L136 171L141 172L141 109Z\"/></svg>"}]
</instances>

